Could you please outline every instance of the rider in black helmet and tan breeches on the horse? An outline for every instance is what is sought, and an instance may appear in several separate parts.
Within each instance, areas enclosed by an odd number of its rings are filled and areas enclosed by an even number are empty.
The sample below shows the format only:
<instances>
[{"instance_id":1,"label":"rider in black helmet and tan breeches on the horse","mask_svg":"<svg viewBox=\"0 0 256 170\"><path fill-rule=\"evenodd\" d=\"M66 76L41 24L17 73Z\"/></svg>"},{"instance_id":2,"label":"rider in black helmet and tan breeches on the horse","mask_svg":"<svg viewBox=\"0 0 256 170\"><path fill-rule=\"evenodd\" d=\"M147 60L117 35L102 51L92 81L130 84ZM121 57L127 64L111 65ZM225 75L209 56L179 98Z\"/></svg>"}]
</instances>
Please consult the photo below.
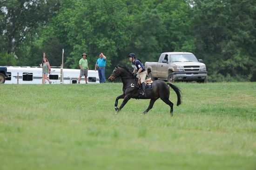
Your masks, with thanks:
<instances>
[{"instance_id":1,"label":"rider in black helmet and tan breeches on the horse","mask_svg":"<svg viewBox=\"0 0 256 170\"><path fill-rule=\"evenodd\" d=\"M146 97L145 79L146 79L147 72L146 72L145 66L142 64L140 59L135 58L135 53L130 53L128 57L129 57L129 60L132 62L132 67L134 68L134 71L132 73L135 74L135 72L137 71L136 78L141 79L141 87L142 87L141 95Z\"/></svg>"}]
</instances>

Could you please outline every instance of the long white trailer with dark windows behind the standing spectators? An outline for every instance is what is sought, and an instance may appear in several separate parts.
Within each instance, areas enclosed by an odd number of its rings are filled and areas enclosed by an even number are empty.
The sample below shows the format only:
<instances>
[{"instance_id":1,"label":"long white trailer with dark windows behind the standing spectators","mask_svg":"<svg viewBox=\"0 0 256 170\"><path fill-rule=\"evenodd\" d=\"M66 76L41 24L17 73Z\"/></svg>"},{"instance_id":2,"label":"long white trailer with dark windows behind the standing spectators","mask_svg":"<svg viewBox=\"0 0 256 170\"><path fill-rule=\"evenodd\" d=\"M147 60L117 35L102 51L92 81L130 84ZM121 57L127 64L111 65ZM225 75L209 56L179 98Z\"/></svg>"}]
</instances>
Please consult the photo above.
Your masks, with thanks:
<instances>
[{"instance_id":1,"label":"long white trailer with dark windows behind the standing spectators","mask_svg":"<svg viewBox=\"0 0 256 170\"><path fill-rule=\"evenodd\" d=\"M18 74L19 73L19 74ZM63 69L63 84L76 84L80 69ZM51 67L48 78L52 84L61 84L61 69ZM46 80L48 83L48 81ZM42 68L40 67L22 67L7 66L7 78L5 84L42 84ZM85 84L84 77L81 78L81 84ZM98 71L88 70L88 83L100 83Z\"/></svg>"}]
</instances>

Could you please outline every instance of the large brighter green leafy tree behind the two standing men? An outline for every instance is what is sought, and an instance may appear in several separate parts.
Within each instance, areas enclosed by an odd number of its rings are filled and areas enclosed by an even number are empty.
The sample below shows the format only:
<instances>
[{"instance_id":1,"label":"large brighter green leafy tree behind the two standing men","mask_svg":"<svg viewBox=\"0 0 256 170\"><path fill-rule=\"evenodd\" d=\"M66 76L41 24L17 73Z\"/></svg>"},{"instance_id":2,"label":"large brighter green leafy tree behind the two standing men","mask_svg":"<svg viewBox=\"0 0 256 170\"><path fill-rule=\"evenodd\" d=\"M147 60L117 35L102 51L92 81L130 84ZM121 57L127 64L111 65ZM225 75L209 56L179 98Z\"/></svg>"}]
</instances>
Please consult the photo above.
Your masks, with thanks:
<instances>
[{"instance_id":1,"label":"large brighter green leafy tree behind the two standing men","mask_svg":"<svg viewBox=\"0 0 256 170\"><path fill-rule=\"evenodd\" d=\"M58 39L64 49L69 49L66 68L79 68L81 54L86 52L89 68L94 69L99 53L103 52L109 69L129 46L129 20L122 0L63 0L57 16L44 30L42 42L47 49L47 46L55 46L51 39Z\"/></svg>"}]
</instances>

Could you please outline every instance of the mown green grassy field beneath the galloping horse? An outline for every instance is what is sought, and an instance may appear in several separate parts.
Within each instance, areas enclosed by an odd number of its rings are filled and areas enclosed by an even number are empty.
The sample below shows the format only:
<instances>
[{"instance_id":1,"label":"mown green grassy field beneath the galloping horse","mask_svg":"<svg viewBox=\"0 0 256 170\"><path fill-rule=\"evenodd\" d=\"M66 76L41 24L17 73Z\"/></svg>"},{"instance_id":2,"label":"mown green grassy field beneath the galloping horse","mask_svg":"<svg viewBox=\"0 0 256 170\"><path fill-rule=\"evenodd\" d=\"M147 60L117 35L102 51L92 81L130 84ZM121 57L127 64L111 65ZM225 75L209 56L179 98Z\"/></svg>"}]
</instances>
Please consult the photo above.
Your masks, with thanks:
<instances>
[{"instance_id":1,"label":"mown green grassy field beneath the galloping horse","mask_svg":"<svg viewBox=\"0 0 256 170\"><path fill-rule=\"evenodd\" d=\"M256 83L174 84L173 117L115 114L121 83L0 85L0 170L256 170Z\"/></svg>"}]
</instances>

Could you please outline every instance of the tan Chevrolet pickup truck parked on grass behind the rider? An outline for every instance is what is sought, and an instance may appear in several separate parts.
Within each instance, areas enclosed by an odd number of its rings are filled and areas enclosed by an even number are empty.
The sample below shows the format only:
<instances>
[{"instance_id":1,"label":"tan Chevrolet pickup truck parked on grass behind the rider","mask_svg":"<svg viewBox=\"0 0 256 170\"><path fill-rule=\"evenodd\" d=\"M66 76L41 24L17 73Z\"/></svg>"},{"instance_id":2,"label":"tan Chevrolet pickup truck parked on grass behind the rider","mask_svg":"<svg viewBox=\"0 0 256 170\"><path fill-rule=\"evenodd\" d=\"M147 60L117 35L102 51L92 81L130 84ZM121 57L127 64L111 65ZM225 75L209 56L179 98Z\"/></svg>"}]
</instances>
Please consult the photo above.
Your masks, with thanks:
<instances>
[{"instance_id":1,"label":"tan Chevrolet pickup truck parked on grass behind the rider","mask_svg":"<svg viewBox=\"0 0 256 170\"><path fill-rule=\"evenodd\" d=\"M191 52L163 52L158 62L146 62L145 68L152 80L167 78L168 82L207 81L205 64Z\"/></svg>"}]
</instances>

